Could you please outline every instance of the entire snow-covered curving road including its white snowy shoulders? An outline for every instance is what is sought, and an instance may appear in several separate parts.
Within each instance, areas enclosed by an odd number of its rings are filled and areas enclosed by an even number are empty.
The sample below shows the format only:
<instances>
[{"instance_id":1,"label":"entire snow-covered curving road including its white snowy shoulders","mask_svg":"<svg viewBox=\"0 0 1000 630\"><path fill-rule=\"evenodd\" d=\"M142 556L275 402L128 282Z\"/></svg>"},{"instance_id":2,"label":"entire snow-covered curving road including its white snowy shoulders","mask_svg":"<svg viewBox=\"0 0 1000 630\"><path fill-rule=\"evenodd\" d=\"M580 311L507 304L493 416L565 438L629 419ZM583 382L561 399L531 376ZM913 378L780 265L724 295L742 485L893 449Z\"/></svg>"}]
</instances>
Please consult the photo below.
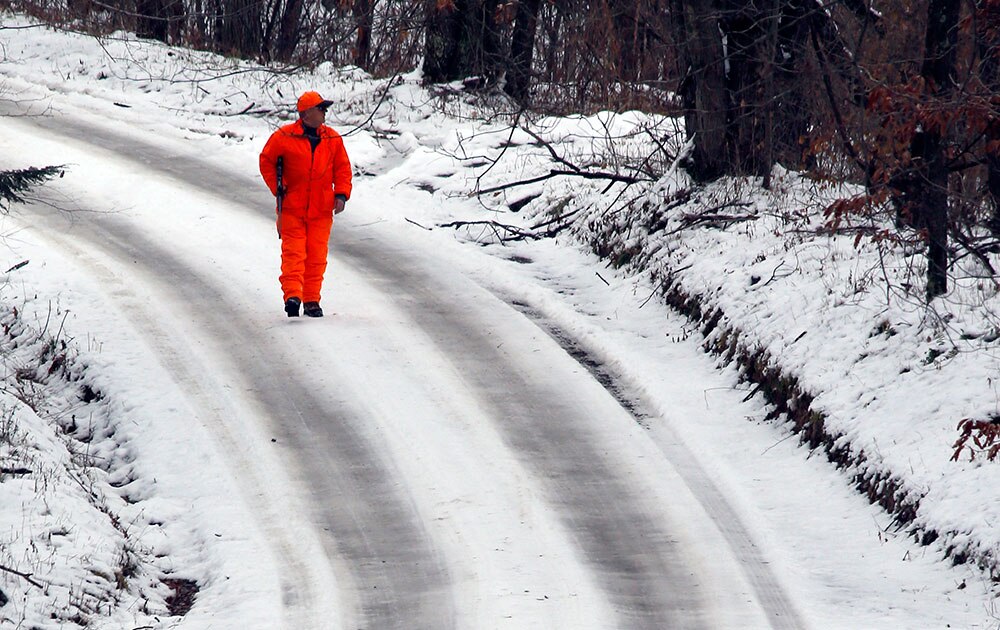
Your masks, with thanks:
<instances>
[{"instance_id":1,"label":"entire snow-covered curving road including its white snowy shoulders","mask_svg":"<svg viewBox=\"0 0 1000 630\"><path fill-rule=\"evenodd\" d=\"M381 175L338 217L328 317L289 320L255 163L275 121L93 80L101 48L50 35L0 66L0 169L69 165L3 222L31 259L6 297L87 340L152 581L199 587L157 628L996 627L981 576L763 422L651 288L404 221L466 176L417 150L436 118L398 154L349 139Z\"/></svg>"}]
</instances>

